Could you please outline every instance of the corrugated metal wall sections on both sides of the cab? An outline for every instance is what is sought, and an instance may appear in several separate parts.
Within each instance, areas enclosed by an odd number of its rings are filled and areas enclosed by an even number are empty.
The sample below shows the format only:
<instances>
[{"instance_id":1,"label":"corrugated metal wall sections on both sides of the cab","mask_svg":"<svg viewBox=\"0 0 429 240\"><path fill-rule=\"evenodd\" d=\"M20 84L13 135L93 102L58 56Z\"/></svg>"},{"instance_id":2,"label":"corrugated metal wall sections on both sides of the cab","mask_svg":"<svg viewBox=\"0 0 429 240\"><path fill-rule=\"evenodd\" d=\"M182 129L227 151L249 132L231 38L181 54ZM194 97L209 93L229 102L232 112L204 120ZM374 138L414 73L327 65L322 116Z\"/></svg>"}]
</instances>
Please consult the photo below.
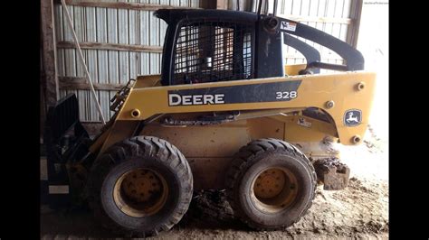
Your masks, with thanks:
<instances>
[{"instance_id":1,"label":"corrugated metal wall sections on both sides of the cab","mask_svg":"<svg viewBox=\"0 0 429 240\"><path fill-rule=\"evenodd\" d=\"M279 0L277 14L300 21L343 40L353 23L350 9L356 0ZM107 1L102 1L107 2ZM111 2L111 1L110 1ZM127 2L127 1L119 1ZM199 0L129 0L129 3L198 7ZM74 29L80 42L123 43L133 45L162 46L167 24L153 16L154 11L114 9L89 6L68 6ZM71 31L61 5L54 5L54 21L57 42L72 42ZM305 42L310 42L305 40ZM332 51L310 43L321 52L322 61L342 63ZM61 44L60 44L61 45ZM138 75L160 73L161 52L82 50L91 78L99 84L125 84ZM287 64L303 63L305 59L290 47L284 50ZM59 47L57 67L60 82L64 77L84 77L77 52L73 48ZM74 80L77 80L74 78ZM60 85L62 86L62 85ZM100 105L106 119L110 118L110 97L116 91L97 90ZM80 102L83 122L98 122L96 106L91 93L85 89L60 88L60 96L75 93Z\"/></svg>"}]
</instances>

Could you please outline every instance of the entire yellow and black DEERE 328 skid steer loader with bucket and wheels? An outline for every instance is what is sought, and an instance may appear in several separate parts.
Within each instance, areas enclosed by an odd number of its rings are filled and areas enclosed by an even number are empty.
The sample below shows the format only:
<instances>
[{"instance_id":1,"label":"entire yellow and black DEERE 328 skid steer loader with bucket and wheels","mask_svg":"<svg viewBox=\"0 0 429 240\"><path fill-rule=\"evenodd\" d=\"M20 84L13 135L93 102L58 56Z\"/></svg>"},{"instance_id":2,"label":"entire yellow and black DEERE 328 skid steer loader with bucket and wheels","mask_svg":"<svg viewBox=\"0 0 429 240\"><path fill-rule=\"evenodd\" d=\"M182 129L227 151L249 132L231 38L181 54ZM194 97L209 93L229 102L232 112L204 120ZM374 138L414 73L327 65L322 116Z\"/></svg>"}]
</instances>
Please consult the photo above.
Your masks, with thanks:
<instances>
[{"instance_id":1,"label":"entire yellow and black DEERE 328 skid steer loader with bucket and wheels","mask_svg":"<svg viewBox=\"0 0 429 240\"><path fill-rule=\"evenodd\" d=\"M162 74L129 80L100 134L85 131L74 95L49 110L52 208L84 200L110 229L156 235L185 215L193 190L226 189L236 217L272 230L299 221L318 184L346 188L335 146L362 142L376 78L359 51L272 14L155 14L167 22ZM302 39L346 64L321 62ZM307 63L285 66L286 45Z\"/></svg>"}]
</instances>

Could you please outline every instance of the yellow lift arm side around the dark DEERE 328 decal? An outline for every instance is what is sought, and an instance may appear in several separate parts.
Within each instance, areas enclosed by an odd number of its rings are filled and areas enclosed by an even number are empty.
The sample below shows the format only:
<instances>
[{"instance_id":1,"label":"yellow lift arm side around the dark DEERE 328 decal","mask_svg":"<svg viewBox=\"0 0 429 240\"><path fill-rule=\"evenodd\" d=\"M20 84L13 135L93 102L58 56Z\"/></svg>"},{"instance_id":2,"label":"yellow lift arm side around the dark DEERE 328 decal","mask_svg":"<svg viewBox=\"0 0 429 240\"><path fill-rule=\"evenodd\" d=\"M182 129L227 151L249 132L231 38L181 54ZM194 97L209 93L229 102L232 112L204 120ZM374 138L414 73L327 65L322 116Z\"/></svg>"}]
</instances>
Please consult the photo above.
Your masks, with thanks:
<instances>
[{"instance_id":1,"label":"yellow lift arm side around the dark DEERE 328 decal","mask_svg":"<svg viewBox=\"0 0 429 240\"><path fill-rule=\"evenodd\" d=\"M365 71L345 72L338 74L318 74L305 76L290 76L287 78L260 78L250 80L222 81L194 85L176 85L153 88L133 88L127 101L119 112L118 120L144 120L157 114L197 113L209 111L232 110L262 110L290 107L318 107L332 116L338 137L343 144L354 144L355 135L361 138L367 129L368 116L372 106L375 88L375 73ZM263 83L301 80L296 98L290 101L253 102L197 106L169 106L168 91L186 90L195 88L240 87L244 85L260 85ZM364 88L358 89L362 83ZM280 89L281 90L281 89ZM275 95L276 92L266 93ZM332 101L334 106L328 107ZM141 115L133 117L131 112L138 109ZM349 109L359 109L362 121L357 126L346 126L344 117Z\"/></svg>"}]
</instances>

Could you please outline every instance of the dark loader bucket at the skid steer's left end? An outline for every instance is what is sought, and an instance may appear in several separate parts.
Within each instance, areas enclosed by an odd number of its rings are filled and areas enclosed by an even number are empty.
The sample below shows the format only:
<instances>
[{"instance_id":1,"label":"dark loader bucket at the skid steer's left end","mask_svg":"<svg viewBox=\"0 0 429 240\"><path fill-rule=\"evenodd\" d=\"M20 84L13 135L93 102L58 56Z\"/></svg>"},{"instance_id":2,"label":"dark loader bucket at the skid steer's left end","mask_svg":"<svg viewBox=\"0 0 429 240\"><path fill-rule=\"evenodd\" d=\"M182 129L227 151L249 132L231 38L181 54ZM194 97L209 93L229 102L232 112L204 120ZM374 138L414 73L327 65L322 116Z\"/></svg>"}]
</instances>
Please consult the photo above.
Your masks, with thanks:
<instances>
[{"instance_id":1,"label":"dark loader bucket at the skid steer's left end","mask_svg":"<svg viewBox=\"0 0 429 240\"><path fill-rule=\"evenodd\" d=\"M81 160L88 153L90 138L79 120L78 99L70 94L48 110L43 134L48 173L48 201L51 208L71 202L66 163Z\"/></svg>"}]
</instances>

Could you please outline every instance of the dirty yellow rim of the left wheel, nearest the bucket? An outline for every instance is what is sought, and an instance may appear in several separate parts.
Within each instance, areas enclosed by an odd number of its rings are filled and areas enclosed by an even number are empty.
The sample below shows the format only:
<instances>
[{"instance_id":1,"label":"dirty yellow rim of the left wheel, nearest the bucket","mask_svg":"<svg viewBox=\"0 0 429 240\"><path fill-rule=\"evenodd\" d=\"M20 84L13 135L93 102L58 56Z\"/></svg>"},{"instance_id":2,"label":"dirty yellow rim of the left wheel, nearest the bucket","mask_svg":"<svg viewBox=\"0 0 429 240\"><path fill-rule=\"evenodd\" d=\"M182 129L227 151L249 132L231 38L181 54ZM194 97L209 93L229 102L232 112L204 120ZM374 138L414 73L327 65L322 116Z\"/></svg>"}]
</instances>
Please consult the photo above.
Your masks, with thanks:
<instances>
[{"instance_id":1,"label":"dirty yellow rim of the left wheel, nearest the bucket","mask_svg":"<svg viewBox=\"0 0 429 240\"><path fill-rule=\"evenodd\" d=\"M115 183L116 206L130 217L156 214L166 203L167 181L157 172L144 168L127 171Z\"/></svg>"}]
</instances>

